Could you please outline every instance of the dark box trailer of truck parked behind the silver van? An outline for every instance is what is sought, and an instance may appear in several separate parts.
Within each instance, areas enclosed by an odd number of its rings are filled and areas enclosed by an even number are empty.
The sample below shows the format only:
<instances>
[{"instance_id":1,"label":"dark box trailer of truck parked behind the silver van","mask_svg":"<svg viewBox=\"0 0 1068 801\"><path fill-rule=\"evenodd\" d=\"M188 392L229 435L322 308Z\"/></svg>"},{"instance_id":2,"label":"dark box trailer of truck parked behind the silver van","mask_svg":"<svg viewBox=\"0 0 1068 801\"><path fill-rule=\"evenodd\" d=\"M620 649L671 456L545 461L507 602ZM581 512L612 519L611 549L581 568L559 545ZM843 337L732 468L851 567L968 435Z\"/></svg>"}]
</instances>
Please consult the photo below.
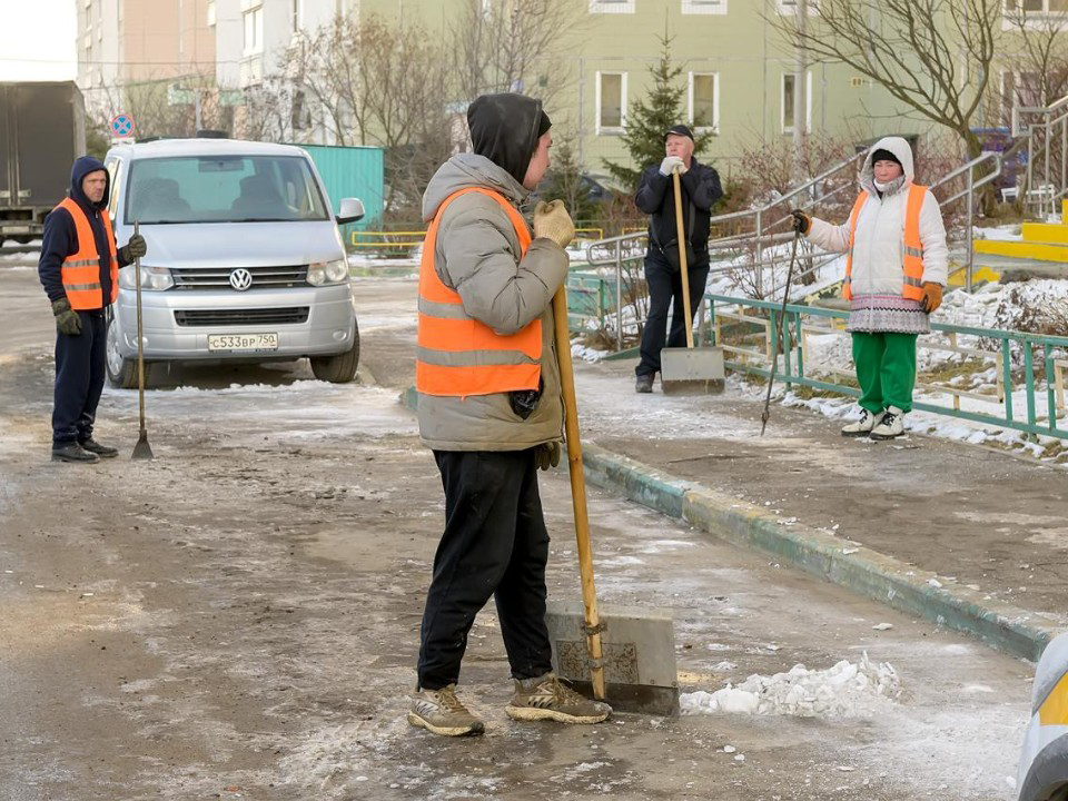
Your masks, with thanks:
<instances>
[{"instance_id":1,"label":"dark box trailer of truck parked behind the silver van","mask_svg":"<svg viewBox=\"0 0 1068 801\"><path fill-rule=\"evenodd\" d=\"M41 236L86 154L86 108L72 81L0 83L0 245Z\"/></svg>"}]
</instances>

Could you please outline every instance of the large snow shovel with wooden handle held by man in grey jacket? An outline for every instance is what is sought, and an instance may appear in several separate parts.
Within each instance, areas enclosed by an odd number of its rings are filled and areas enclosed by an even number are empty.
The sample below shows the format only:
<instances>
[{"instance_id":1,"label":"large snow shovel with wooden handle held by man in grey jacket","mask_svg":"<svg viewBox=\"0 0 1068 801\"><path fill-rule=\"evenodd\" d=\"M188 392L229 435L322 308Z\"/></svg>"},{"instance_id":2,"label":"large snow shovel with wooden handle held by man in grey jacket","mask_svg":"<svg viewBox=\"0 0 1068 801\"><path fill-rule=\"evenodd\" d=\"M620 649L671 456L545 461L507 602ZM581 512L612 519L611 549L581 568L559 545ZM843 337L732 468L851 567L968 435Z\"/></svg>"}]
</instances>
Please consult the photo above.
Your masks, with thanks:
<instances>
[{"instance_id":1,"label":"large snow shovel with wooden handle held by man in grey jacket","mask_svg":"<svg viewBox=\"0 0 1068 801\"><path fill-rule=\"evenodd\" d=\"M574 602L548 604L545 623L553 665L556 675L572 682L576 690L607 700L615 710L674 714L679 710L679 680L671 612L606 606L602 614L597 607L564 287L553 297L553 317L582 580L581 607Z\"/></svg>"}]
</instances>

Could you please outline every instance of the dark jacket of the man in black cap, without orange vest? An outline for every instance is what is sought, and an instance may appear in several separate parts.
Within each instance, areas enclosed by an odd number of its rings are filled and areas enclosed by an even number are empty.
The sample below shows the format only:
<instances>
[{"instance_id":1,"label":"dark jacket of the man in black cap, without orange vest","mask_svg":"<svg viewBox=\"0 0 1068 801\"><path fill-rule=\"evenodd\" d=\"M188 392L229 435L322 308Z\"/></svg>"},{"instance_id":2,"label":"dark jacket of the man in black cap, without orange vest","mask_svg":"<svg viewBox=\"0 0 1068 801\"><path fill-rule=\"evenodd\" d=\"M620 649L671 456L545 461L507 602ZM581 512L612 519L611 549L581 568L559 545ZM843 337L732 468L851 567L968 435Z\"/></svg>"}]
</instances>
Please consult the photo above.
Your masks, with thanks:
<instances>
[{"instance_id":1,"label":"dark jacket of the man in black cap, without orange vest","mask_svg":"<svg viewBox=\"0 0 1068 801\"><path fill-rule=\"evenodd\" d=\"M713 204L723 197L720 175L711 167L691 158L690 169L680 177L680 184L682 185L683 229L693 245L695 266L706 265L709 263L709 217L711 217ZM662 175L659 164L646 167L642 172L637 194L634 196L634 205L650 215L650 249L673 244L679 239L675 192L671 176Z\"/></svg>"}]
</instances>

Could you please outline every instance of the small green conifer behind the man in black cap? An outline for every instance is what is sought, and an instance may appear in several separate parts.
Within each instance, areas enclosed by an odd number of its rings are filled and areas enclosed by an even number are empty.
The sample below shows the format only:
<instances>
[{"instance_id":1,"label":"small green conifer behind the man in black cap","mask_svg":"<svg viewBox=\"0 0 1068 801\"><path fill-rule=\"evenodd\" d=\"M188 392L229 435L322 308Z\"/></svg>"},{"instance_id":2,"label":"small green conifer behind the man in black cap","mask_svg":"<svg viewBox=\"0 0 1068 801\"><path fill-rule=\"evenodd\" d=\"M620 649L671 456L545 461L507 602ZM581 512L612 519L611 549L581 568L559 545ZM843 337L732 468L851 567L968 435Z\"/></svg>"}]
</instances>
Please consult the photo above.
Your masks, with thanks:
<instances>
[{"instance_id":1,"label":"small green conifer behind the man in black cap","mask_svg":"<svg viewBox=\"0 0 1068 801\"><path fill-rule=\"evenodd\" d=\"M661 56L655 66L649 68L653 77L653 88L649 96L635 103L626 120L626 129L620 139L631 156L633 166L615 164L603 159L612 177L633 191L642 170L664 158L664 131L673 125L689 123L683 98L685 85L679 85L682 67L671 61L670 38L661 37ZM709 145L709 135L698 135L694 154L702 152Z\"/></svg>"}]
</instances>

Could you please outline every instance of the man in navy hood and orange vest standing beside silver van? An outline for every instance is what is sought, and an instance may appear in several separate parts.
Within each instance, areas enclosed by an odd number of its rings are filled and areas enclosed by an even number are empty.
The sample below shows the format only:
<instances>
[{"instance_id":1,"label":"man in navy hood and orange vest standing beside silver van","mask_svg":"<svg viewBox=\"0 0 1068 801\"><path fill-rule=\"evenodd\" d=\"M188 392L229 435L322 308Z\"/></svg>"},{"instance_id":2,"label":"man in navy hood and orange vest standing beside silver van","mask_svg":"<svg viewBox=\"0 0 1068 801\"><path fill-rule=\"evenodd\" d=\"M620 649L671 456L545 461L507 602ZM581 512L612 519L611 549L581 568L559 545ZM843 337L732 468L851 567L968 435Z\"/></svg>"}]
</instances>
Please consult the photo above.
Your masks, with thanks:
<instances>
[{"instance_id":1,"label":"man in navy hood and orange vest standing beside silver van","mask_svg":"<svg viewBox=\"0 0 1068 801\"><path fill-rule=\"evenodd\" d=\"M107 217L110 177L85 156L70 170L70 192L44 218L38 274L56 316L52 461L97 462L118 454L92 438L103 390L105 309L118 295L118 268L146 254L134 235L116 249Z\"/></svg>"}]
</instances>

